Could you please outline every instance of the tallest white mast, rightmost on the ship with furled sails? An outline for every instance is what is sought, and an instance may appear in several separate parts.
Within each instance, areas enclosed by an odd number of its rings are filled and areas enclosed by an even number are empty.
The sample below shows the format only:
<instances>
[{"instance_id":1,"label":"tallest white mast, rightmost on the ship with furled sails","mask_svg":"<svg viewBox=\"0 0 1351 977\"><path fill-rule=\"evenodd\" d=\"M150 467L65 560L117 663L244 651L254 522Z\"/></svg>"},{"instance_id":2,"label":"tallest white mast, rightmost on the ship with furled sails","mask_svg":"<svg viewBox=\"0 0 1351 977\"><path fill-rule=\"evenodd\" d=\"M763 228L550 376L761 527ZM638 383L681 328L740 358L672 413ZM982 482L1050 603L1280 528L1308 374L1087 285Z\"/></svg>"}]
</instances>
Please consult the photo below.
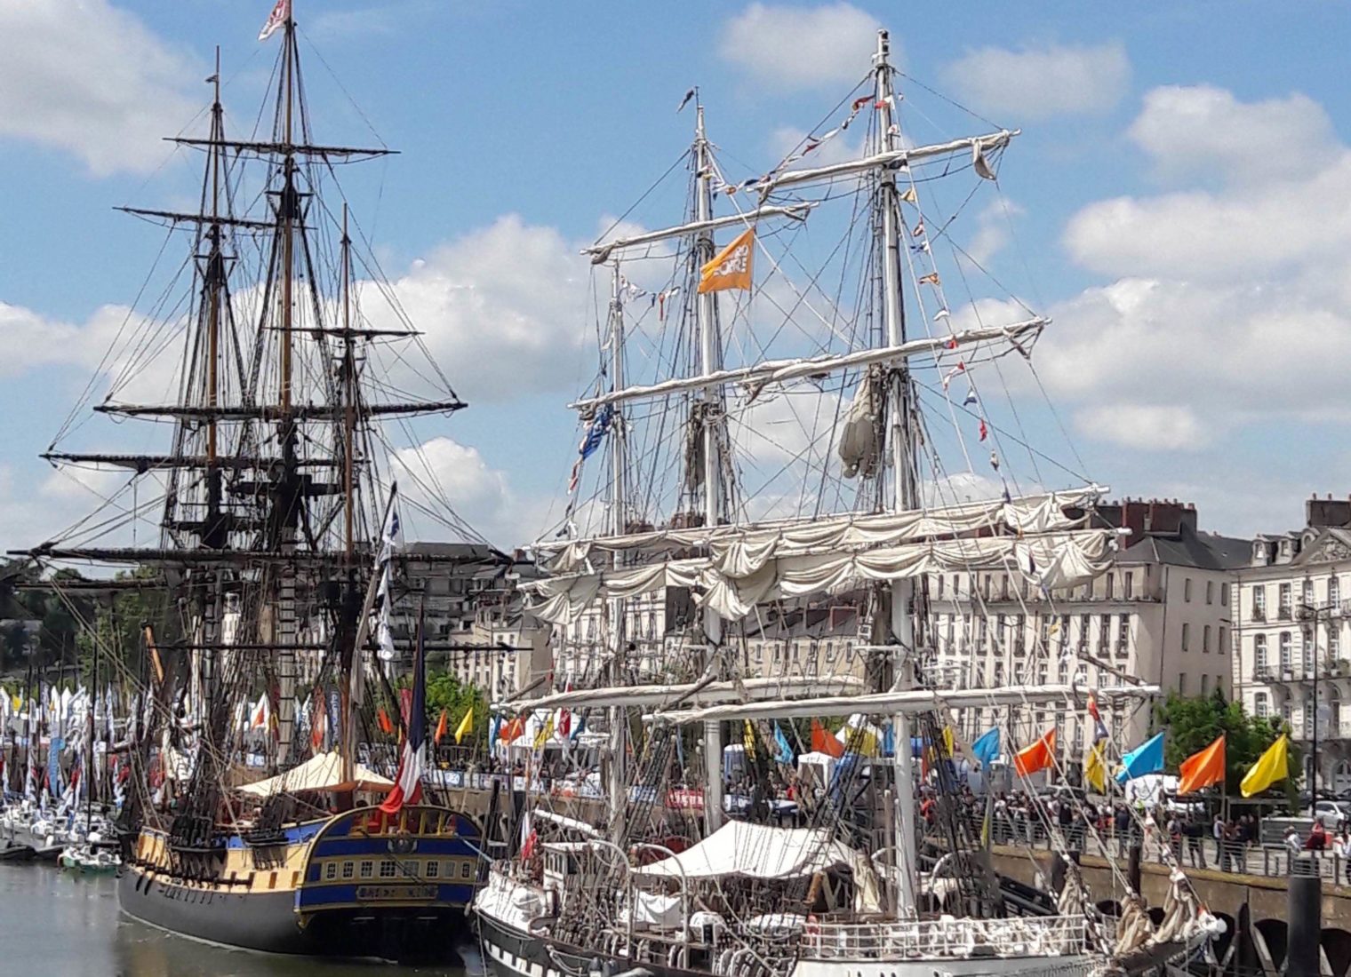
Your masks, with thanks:
<instances>
[{"instance_id":1,"label":"tallest white mast, rightmost on the ship with furled sails","mask_svg":"<svg viewBox=\"0 0 1351 977\"><path fill-rule=\"evenodd\" d=\"M893 124L893 89L890 65L890 40L886 31L877 32L877 142L875 152L890 152L900 148L900 130ZM880 170L877 206L881 211L881 227L877 250L882 263L882 320L886 344L901 345L905 341L905 309L901 304L901 247L900 247L900 200L896 192L896 170ZM902 362L890 371L886 393L888 441L892 463L892 505L896 511L917 509L917 472L915 463L913 420L911 410L909 370ZM904 691L915 684L915 583L912 578L894 580L890 584L890 634L893 688ZM911 721L905 713L892 718L893 741L896 744L896 853L898 857L897 915L913 916L916 850L915 850L915 798L913 761L911 757Z\"/></svg>"}]
</instances>

